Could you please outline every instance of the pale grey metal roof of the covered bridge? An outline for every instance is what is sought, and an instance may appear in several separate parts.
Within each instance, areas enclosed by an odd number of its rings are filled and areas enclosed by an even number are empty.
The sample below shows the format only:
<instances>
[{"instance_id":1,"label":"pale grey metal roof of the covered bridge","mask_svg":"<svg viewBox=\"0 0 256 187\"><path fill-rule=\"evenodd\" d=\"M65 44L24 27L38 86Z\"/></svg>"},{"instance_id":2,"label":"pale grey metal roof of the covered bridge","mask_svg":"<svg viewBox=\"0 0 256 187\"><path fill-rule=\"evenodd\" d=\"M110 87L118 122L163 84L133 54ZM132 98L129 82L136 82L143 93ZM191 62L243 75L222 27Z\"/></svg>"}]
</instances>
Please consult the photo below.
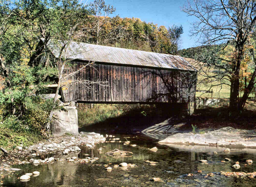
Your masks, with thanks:
<instances>
[{"instance_id":1,"label":"pale grey metal roof of the covered bridge","mask_svg":"<svg viewBox=\"0 0 256 187\"><path fill-rule=\"evenodd\" d=\"M49 49L52 49L54 56L58 57L60 48L56 46L61 46L61 42L49 41ZM79 59L92 62L196 71L196 69L181 56L78 43L74 41L69 43L66 51L62 53L62 57L72 60Z\"/></svg>"}]
</instances>

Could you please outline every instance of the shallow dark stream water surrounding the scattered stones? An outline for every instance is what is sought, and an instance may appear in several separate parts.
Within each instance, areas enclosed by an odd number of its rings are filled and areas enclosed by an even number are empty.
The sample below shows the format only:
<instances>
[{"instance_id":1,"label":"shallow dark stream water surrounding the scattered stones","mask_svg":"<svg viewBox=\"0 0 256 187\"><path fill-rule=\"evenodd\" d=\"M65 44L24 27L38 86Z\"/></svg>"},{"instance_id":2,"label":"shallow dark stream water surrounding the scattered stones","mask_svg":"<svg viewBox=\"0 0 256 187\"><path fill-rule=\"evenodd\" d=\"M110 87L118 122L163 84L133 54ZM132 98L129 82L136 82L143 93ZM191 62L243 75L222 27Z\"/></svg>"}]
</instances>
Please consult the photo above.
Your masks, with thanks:
<instances>
[{"instance_id":1,"label":"shallow dark stream water surrounding the scattered stones","mask_svg":"<svg viewBox=\"0 0 256 187\"><path fill-rule=\"evenodd\" d=\"M220 175L220 171L256 171L256 153L245 152L243 150L231 150L226 154L219 152L218 154L209 154L207 152L198 153L193 150L184 148L177 149L168 146L161 146L156 139L148 138L144 135L115 135L120 138L122 143L100 143L95 149L81 147L82 151L78 154L68 155L66 157L76 156L85 158L84 154L99 157L93 164L68 163L67 161L54 162L53 164L45 164L34 166L32 164L17 165L14 168L21 168L16 175L6 176L3 186L26 186L26 187L80 187L80 186L223 186L223 187L253 187L256 186L256 179L245 177L244 179L236 177L226 177ZM136 144L137 147L124 146L123 141L130 140L130 144ZM148 148L157 147L157 152L151 152ZM103 148L102 154L99 154L100 147ZM113 149L133 152L132 157L113 158L106 156L105 152ZM213 152L213 151L212 151ZM44 157L53 155L45 155ZM55 157L62 157L62 154L55 154ZM231 162L222 163L224 158L230 158ZM198 163L198 160L208 160L209 164ZM245 160L252 159L255 163L244 166ZM157 162L156 166L145 163L145 160ZM239 161L241 169L231 168L234 162ZM114 164L122 162L136 164L137 167L122 170L113 168ZM113 169L111 172L105 170L104 164L109 164ZM201 174L197 171L202 170ZM33 177L28 182L20 182L17 178L25 173L39 171L40 175ZM207 173L214 172L212 177L204 177ZM192 173L194 176L186 176ZM160 177L164 182L156 183L151 181L153 177Z\"/></svg>"}]
</instances>

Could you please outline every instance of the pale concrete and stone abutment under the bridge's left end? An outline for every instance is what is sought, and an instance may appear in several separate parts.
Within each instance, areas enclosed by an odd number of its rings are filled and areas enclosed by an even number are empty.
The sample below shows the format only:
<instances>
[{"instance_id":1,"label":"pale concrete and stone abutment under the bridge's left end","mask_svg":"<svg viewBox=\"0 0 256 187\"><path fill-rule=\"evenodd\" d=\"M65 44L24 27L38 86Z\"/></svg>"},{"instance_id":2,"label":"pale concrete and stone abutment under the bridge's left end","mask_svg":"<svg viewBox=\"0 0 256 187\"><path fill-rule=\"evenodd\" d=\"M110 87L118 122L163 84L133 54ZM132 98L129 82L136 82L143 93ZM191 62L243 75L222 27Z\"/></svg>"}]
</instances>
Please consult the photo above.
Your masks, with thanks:
<instances>
[{"instance_id":1,"label":"pale concrete and stone abutment under the bridge's left end","mask_svg":"<svg viewBox=\"0 0 256 187\"><path fill-rule=\"evenodd\" d=\"M66 111L55 111L51 130L54 136L65 133L78 134L77 109L75 102L61 103Z\"/></svg>"}]
</instances>

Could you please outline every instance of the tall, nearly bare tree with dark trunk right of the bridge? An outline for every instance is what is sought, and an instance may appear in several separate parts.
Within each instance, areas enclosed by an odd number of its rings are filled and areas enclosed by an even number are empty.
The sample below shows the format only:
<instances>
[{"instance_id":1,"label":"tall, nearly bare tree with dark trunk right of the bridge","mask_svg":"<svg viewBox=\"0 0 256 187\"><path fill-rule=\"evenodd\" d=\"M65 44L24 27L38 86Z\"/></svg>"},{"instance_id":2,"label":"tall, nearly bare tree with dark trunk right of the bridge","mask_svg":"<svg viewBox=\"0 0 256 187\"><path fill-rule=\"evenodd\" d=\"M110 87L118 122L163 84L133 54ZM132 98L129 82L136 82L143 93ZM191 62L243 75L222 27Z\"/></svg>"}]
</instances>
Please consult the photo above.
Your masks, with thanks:
<instances>
[{"instance_id":1,"label":"tall, nearly bare tree with dark trunk right of the bridge","mask_svg":"<svg viewBox=\"0 0 256 187\"><path fill-rule=\"evenodd\" d=\"M188 16L193 16L196 21L192 23L191 36L199 37L203 45L215 46L224 44L225 49L229 44L234 45L233 57L219 61L209 61L227 72L225 78L230 82L229 107L231 111L241 111L248 95L253 89L256 77L256 66L252 79L246 85L242 98L239 98L239 74L241 63L244 59L244 46L248 38L254 35L256 22L256 2L254 0L193 0L188 1L183 7ZM219 51L214 52L216 59L221 59ZM213 62L213 64L212 64Z\"/></svg>"}]
</instances>

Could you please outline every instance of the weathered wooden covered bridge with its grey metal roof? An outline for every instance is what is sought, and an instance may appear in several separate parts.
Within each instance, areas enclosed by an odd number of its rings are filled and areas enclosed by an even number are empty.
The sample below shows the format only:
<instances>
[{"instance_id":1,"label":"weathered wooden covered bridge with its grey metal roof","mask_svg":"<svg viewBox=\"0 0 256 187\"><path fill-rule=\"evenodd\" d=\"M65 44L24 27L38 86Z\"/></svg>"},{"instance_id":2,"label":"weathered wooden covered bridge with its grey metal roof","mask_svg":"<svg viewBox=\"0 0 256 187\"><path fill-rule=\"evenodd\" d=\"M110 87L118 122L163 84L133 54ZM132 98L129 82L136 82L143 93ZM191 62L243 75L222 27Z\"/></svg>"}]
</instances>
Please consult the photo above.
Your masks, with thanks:
<instances>
[{"instance_id":1,"label":"weathered wooden covered bridge with its grey metal roof","mask_svg":"<svg viewBox=\"0 0 256 187\"><path fill-rule=\"evenodd\" d=\"M77 42L65 56L65 74L76 73L62 86L64 102L188 103L195 97L197 71L180 56Z\"/></svg>"}]
</instances>

